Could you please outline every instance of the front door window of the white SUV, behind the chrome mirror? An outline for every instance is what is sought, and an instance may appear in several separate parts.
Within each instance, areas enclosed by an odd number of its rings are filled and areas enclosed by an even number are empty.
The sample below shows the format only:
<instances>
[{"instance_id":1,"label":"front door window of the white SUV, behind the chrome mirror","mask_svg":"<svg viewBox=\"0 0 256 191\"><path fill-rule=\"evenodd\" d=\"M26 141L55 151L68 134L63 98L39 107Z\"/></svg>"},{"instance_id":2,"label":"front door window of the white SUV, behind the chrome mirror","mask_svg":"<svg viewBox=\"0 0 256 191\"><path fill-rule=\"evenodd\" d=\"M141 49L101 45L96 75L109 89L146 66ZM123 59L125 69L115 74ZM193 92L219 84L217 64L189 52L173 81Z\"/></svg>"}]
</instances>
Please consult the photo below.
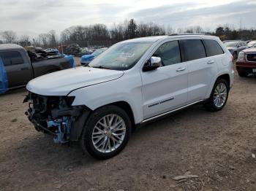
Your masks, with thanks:
<instances>
[{"instance_id":1,"label":"front door window of the white SUV, behind the chrome mirror","mask_svg":"<svg viewBox=\"0 0 256 191\"><path fill-rule=\"evenodd\" d=\"M181 62L178 41L165 42L154 52L154 55L161 58L163 66Z\"/></svg>"}]
</instances>

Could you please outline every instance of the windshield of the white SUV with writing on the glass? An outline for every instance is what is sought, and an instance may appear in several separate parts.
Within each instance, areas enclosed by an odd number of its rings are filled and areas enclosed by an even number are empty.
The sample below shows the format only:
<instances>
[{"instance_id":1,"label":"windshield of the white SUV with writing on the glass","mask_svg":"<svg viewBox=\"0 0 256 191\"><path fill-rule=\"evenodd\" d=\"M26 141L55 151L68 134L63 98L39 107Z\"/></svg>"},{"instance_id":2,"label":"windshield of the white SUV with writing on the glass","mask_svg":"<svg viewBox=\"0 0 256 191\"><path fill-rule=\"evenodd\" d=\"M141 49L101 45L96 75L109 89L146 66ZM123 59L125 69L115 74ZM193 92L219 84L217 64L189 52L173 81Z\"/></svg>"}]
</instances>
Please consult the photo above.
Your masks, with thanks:
<instances>
[{"instance_id":1,"label":"windshield of the white SUV with writing on the glass","mask_svg":"<svg viewBox=\"0 0 256 191\"><path fill-rule=\"evenodd\" d=\"M124 42L115 44L89 63L90 67L127 70L140 60L152 42Z\"/></svg>"}]
</instances>

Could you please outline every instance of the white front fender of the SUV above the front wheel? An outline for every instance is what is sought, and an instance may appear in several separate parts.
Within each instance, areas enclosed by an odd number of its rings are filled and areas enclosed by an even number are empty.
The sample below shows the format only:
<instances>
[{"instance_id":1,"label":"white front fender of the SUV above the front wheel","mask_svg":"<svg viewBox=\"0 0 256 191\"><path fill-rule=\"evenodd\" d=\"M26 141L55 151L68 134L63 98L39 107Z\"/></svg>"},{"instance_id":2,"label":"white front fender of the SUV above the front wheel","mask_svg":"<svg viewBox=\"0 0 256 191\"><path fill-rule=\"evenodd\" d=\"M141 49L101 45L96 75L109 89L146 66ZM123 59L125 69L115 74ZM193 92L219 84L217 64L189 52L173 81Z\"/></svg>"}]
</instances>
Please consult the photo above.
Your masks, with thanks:
<instances>
[{"instance_id":1,"label":"white front fender of the SUV above the front wheel","mask_svg":"<svg viewBox=\"0 0 256 191\"><path fill-rule=\"evenodd\" d=\"M138 124L143 120L141 77L138 72L128 71L127 73L113 81L72 91L68 95L75 96L72 106L84 105L94 111L101 106L125 101L132 109L135 124Z\"/></svg>"}]
</instances>

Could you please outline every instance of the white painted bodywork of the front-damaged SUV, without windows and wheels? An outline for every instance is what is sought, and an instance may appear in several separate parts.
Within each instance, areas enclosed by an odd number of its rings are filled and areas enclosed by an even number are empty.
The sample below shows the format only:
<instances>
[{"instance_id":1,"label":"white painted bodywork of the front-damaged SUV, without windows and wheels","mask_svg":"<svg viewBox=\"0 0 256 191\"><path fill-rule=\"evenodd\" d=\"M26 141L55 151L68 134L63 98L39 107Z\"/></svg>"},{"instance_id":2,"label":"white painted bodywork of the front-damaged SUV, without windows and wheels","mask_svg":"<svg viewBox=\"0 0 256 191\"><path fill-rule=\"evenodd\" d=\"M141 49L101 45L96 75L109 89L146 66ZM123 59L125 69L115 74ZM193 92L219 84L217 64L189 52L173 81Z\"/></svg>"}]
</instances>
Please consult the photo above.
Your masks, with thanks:
<instances>
[{"instance_id":1,"label":"white painted bodywork of the front-damaged SUV, without windows and wheels","mask_svg":"<svg viewBox=\"0 0 256 191\"><path fill-rule=\"evenodd\" d=\"M182 39L213 39L219 42L225 53L154 71L142 70L144 63L161 44ZM116 71L78 67L33 79L27 89L39 95L75 96L72 106L85 105L91 110L125 101L132 109L135 124L138 124L158 114L209 98L216 79L222 74L228 74L230 87L233 85L232 55L216 36L153 36L125 42L154 43L132 69ZM184 71L177 71L180 68Z\"/></svg>"}]
</instances>

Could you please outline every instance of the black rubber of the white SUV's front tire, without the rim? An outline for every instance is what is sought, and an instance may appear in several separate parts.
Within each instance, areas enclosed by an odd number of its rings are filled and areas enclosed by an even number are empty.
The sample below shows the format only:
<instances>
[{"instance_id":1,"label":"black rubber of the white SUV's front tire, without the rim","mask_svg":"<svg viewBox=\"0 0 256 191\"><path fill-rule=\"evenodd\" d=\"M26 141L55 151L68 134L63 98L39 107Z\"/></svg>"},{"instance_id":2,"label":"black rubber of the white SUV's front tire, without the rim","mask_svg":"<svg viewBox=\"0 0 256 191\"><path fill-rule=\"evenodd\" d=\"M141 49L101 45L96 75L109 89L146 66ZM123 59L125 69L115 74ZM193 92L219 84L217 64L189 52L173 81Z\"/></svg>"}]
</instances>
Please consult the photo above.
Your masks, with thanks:
<instances>
[{"instance_id":1,"label":"black rubber of the white SUV's front tire, without the rim","mask_svg":"<svg viewBox=\"0 0 256 191\"><path fill-rule=\"evenodd\" d=\"M126 130L125 130L124 139L121 142L121 144L115 150L111 152L103 153L103 152L99 152L94 147L92 135L94 132L94 127L95 125L97 125L97 122L99 122L99 120L101 120L102 117L105 117L108 114L116 114L119 117L121 117L121 119L124 120ZM97 159L108 159L110 157L118 155L118 153L121 152L122 149L124 149L131 135L131 130L132 130L131 120L129 119L128 114L124 112L123 109L121 109L118 106L103 106L97 109L96 111L94 111L89 116L89 120L86 122L86 125L83 128L83 133L80 138L80 147L83 149L83 152L87 151L91 156L96 157ZM113 141L112 141L112 144L113 144Z\"/></svg>"}]
</instances>

